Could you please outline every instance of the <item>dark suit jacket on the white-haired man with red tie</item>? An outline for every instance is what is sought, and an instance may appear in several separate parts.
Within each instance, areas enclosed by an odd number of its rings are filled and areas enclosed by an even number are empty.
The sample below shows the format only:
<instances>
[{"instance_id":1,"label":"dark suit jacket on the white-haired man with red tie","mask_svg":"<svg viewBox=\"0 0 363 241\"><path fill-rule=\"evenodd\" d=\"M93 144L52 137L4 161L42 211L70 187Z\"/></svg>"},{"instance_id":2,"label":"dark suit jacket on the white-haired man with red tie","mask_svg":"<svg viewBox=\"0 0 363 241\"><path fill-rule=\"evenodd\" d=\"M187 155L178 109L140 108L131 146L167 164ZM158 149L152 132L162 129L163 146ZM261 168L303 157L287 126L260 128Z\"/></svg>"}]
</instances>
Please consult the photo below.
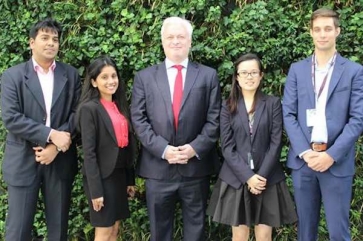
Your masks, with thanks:
<instances>
[{"instance_id":1,"label":"dark suit jacket on the white-haired man with red tie","mask_svg":"<svg viewBox=\"0 0 363 241\"><path fill-rule=\"evenodd\" d=\"M189 62L178 130L175 131L165 62L138 72L131 103L132 123L142 144L138 174L146 178L169 179L176 172L187 177L203 177L217 172L220 106L216 71ZM188 143L199 159L193 157L186 165L170 165L161 158L168 144Z\"/></svg>"}]
</instances>

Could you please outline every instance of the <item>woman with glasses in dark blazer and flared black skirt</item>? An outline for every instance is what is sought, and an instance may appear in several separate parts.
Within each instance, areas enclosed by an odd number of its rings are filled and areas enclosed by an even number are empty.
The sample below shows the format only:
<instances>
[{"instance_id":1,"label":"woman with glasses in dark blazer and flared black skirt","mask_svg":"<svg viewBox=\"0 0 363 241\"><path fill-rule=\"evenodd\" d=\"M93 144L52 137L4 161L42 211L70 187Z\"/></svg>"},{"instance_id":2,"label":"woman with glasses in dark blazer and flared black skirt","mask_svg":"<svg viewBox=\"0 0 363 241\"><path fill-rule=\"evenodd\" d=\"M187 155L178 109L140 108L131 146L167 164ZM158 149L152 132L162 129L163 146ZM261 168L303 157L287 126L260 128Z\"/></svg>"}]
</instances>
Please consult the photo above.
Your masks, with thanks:
<instances>
[{"instance_id":1,"label":"woman with glasses in dark blazer and flared black skirt","mask_svg":"<svg viewBox=\"0 0 363 241\"><path fill-rule=\"evenodd\" d=\"M224 163L208 214L232 226L233 241L272 240L272 227L297 220L279 163L281 101L261 91L263 68L255 54L234 64L232 89L220 116Z\"/></svg>"}]
</instances>

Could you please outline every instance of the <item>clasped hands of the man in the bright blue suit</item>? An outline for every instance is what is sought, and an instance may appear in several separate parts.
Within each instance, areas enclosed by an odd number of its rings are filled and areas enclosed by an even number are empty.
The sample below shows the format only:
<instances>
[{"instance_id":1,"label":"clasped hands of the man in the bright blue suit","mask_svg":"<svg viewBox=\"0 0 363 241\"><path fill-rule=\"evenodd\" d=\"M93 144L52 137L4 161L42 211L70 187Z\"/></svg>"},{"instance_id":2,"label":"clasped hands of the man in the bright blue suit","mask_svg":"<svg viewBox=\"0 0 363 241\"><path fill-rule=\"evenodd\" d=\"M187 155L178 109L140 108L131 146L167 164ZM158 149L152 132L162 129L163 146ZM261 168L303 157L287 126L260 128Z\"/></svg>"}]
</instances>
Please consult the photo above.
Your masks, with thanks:
<instances>
[{"instance_id":1,"label":"clasped hands of the man in the bright blue suit","mask_svg":"<svg viewBox=\"0 0 363 241\"><path fill-rule=\"evenodd\" d=\"M317 152L311 150L305 153L302 158L308 167L316 172L325 172L334 164L334 159L325 151Z\"/></svg>"}]
</instances>

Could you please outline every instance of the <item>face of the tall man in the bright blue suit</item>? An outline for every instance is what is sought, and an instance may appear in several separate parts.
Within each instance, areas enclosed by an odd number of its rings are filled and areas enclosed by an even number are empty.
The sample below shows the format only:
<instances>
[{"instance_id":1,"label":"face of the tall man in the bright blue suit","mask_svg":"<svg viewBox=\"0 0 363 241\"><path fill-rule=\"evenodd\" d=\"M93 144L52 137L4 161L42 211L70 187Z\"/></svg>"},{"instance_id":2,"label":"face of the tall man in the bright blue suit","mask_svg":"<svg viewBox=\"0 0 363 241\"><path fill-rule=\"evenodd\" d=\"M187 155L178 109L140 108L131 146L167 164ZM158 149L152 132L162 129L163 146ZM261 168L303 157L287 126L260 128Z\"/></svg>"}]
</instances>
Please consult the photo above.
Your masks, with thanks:
<instances>
[{"instance_id":1,"label":"face of the tall man in the bright blue suit","mask_svg":"<svg viewBox=\"0 0 363 241\"><path fill-rule=\"evenodd\" d=\"M335 49L336 38L340 34L340 28L335 27L331 17L319 17L313 21L310 35L316 50L329 51Z\"/></svg>"}]
</instances>

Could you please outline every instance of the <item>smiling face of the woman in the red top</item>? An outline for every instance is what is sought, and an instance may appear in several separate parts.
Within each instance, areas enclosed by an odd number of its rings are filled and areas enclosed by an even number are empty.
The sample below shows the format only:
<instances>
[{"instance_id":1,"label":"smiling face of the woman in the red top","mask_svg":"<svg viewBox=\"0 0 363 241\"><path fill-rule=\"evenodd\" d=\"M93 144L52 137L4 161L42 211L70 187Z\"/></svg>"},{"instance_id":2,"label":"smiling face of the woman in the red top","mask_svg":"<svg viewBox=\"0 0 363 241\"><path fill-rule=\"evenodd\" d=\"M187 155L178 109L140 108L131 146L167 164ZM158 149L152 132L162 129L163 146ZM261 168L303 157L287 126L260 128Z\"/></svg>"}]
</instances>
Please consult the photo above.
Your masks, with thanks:
<instances>
[{"instance_id":1,"label":"smiling face of the woman in the red top","mask_svg":"<svg viewBox=\"0 0 363 241\"><path fill-rule=\"evenodd\" d=\"M112 95L118 88L117 72L112 66L105 66L95 80L92 80L92 85L98 88L102 99L112 101Z\"/></svg>"}]
</instances>

